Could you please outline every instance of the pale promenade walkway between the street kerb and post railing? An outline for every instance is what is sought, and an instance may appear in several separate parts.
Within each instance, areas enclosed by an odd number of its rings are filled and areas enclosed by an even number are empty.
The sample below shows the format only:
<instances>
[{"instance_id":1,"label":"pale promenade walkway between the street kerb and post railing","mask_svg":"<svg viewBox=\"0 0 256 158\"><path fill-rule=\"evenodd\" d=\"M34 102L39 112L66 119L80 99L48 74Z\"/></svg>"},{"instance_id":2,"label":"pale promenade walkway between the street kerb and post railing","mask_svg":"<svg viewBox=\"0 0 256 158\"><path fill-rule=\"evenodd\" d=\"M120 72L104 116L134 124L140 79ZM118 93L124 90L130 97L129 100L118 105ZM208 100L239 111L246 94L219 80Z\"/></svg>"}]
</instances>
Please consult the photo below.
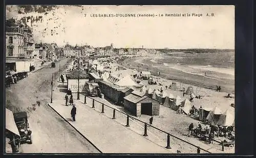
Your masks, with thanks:
<instances>
[{"instance_id":1,"label":"pale promenade walkway between the street kerb and post railing","mask_svg":"<svg viewBox=\"0 0 256 158\"><path fill-rule=\"evenodd\" d=\"M71 106L65 100L49 103L59 115L90 140L103 153L172 153L172 149L161 147L135 133L109 117L74 99L77 108L76 121L71 121Z\"/></svg>"}]
</instances>

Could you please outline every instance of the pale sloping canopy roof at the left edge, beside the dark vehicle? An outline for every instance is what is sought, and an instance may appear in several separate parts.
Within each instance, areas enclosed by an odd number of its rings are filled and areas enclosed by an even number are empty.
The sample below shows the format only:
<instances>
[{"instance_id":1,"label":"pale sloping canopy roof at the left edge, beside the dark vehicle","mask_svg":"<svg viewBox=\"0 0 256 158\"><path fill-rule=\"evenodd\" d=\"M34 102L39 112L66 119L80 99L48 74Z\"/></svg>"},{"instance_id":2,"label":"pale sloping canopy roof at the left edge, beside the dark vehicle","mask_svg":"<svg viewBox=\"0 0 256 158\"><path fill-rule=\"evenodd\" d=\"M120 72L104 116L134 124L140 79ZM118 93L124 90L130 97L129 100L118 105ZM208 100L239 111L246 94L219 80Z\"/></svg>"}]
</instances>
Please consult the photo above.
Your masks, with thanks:
<instances>
[{"instance_id":1,"label":"pale sloping canopy roof at the left edge, beside the dark vehicle","mask_svg":"<svg viewBox=\"0 0 256 158\"><path fill-rule=\"evenodd\" d=\"M6 129L10 130L12 133L19 136L17 125L14 121L13 113L12 111L5 109L5 122L6 122Z\"/></svg>"}]
</instances>

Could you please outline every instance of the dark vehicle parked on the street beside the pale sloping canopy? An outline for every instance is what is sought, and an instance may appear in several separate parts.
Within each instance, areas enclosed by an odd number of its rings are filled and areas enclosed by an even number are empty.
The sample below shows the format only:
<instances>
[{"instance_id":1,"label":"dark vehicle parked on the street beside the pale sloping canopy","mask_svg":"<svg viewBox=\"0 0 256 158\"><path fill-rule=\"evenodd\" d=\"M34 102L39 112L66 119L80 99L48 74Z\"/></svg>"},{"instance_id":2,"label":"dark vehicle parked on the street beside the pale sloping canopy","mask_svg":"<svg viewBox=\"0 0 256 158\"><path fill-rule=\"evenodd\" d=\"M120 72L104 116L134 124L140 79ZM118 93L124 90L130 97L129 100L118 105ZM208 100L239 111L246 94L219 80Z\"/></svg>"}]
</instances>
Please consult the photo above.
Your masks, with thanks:
<instances>
[{"instance_id":1,"label":"dark vehicle parked on the street beside the pale sloping canopy","mask_svg":"<svg viewBox=\"0 0 256 158\"><path fill-rule=\"evenodd\" d=\"M14 121L18 127L20 142L30 141L32 144L32 131L30 130L28 123L28 116L26 112L14 113Z\"/></svg>"}]
</instances>

